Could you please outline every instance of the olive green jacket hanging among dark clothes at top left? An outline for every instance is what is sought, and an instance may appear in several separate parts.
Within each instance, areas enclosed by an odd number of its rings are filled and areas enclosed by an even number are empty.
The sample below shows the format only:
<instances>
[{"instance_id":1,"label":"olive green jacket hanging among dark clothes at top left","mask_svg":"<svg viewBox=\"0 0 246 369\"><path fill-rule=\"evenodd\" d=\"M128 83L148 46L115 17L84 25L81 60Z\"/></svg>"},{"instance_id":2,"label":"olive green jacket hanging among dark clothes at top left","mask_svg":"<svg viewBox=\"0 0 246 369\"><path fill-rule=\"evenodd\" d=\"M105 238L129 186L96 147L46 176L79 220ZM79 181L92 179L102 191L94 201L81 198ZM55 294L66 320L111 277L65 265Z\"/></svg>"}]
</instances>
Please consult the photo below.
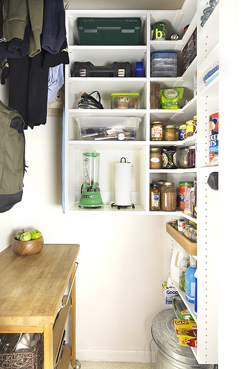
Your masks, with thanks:
<instances>
[{"instance_id":1,"label":"olive green jacket hanging among dark clothes at top left","mask_svg":"<svg viewBox=\"0 0 246 369\"><path fill-rule=\"evenodd\" d=\"M5 0L2 1L3 36L6 41L12 38L23 40L26 26L31 24L29 56L41 51L40 34L43 24L44 0Z\"/></svg>"}]
</instances>

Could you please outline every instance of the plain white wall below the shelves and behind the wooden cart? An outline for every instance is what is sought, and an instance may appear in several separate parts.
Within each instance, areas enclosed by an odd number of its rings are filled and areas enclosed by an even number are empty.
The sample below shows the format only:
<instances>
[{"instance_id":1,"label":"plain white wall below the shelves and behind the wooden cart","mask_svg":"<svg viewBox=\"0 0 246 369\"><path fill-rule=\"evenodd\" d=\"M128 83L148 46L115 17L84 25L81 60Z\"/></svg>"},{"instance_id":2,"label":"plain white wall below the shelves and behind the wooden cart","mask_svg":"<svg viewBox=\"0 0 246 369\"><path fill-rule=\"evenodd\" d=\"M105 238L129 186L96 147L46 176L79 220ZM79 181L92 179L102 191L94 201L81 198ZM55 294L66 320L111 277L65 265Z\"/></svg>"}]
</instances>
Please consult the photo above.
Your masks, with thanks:
<instances>
[{"instance_id":1,"label":"plain white wall below the shelves and behind the wooden cart","mask_svg":"<svg viewBox=\"0 0 246 369\"><path fill-rule=\"evenodd\" d=\"M23 199L5 245L22 228L41 230L46 244L79 244L77 359L148 362L152 319L163 309L164 218L63 214L61 150L61 119L26 131Z\"/></svg>"}]
</instances>

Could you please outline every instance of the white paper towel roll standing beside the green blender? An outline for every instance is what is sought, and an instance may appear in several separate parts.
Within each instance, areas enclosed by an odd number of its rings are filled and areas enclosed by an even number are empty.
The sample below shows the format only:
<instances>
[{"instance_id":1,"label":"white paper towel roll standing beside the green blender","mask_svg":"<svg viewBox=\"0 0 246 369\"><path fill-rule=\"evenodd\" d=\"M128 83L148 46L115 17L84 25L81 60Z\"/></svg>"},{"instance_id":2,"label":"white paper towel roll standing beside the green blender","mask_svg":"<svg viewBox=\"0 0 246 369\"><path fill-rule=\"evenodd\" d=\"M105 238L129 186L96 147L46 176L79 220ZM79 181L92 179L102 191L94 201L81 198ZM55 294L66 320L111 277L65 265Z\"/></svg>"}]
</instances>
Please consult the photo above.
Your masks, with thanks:
<instances>
[{"instance_id":1,"label":"white paper towel roll standing beside the green blender","mask_svg":"<svg viewBox=\"0 0 246 369\"><path fill-rule=\"evenodd\" d=\"M131 163L115 163L115 205L130 206L131 202Z\"/></svg>"}]
</instances>

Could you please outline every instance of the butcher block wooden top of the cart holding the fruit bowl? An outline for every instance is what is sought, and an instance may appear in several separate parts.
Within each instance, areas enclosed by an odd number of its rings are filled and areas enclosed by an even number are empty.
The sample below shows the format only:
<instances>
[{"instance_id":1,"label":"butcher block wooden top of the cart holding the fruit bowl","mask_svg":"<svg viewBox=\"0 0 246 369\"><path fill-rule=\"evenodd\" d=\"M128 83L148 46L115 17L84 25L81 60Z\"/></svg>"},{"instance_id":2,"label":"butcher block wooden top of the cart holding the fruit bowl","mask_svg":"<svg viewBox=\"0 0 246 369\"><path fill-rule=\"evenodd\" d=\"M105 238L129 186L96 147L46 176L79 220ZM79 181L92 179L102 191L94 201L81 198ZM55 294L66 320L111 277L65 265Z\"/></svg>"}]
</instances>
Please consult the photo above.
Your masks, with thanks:
<instances>
[{"instance_id":1,"label":"butcher block wooden top of the cart holding the fruit bowl","mask_svg":"<svg viewBox=\"0 0 246 369\"><path fill-rule=\"evenodd\" d=\"M0 325L53 324L79 245L44 245L29 256L0 252Z\"/></svg>"}]
</instances>

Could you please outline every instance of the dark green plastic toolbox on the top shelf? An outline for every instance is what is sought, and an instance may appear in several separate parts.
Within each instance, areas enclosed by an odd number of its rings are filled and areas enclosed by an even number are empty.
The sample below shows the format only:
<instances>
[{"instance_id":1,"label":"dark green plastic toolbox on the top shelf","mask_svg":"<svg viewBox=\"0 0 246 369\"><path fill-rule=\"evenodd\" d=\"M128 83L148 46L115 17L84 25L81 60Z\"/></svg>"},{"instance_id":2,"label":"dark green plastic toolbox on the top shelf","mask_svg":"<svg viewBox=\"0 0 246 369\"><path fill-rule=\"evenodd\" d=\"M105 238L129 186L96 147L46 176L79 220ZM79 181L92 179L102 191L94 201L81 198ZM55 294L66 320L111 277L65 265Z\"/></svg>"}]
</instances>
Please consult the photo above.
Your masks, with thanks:
<instances>
[{"instance_id":1,"label":"dark green plastic toolbox on the top shelf","mask_svg":"<svg viewBox=\"0 0 246 369\"><path fill-rule=\"evenodd\" d=\"M80 45L139 45L141 18L77 18Z\"/></svg>"}]
</instances>

